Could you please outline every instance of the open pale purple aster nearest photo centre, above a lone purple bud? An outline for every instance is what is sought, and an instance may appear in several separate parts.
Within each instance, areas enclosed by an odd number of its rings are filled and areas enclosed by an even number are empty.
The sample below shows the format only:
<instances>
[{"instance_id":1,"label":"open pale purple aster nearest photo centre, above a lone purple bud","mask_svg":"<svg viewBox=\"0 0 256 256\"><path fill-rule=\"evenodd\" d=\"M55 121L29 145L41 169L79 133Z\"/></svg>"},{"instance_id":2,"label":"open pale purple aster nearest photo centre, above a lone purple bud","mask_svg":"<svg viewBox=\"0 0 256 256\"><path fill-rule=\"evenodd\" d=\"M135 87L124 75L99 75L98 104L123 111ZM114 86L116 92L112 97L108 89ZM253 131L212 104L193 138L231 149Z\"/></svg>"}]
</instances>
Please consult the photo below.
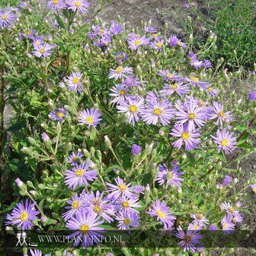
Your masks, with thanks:
<instances>
[{"instance_id":1,"label":"open pale purple aster nearest photo centre, above a lone purple bud","mask_svg":"<svg viewBox=\"0 0 256 256\"><path fill-rule=\"evenodd\" d=\"M144 109L143 98L127 98L126 101L121 101L120 105L117 105L118 113L126 113L128 117L128 123L132 123L135 126L135 122L139 122L139 114Z\"/></svg>"}]
</instances>

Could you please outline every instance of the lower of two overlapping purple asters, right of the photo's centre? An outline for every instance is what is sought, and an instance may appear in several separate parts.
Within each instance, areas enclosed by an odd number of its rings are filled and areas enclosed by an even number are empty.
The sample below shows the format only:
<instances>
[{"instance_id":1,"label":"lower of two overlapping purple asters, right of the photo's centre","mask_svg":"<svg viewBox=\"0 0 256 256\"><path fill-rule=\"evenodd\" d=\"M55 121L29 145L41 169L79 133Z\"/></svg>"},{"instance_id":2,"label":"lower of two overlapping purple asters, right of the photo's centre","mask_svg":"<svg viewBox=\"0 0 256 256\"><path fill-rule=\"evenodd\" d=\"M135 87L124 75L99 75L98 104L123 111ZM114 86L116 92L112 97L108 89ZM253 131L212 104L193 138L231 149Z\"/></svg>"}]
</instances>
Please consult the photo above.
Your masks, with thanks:
<instances>
[{"instance_id":1,"label":"lower of two overlapping purple asters, right of the photo's centre","mask_svg":"<svg viewBox=\"0 0 256 256\"><path fill-rule=\"evenodd\" d=\"M197 133L197 130L188 130L187 124L174 126L170 135L180 137L180 139L172 143L172 145L178 149L181 149L182 144L185 143L185 149L192 150L197 148L197 145L200 143L200 139L196 138L200 136L200 133Z\"/></svg>"}]
</instances>

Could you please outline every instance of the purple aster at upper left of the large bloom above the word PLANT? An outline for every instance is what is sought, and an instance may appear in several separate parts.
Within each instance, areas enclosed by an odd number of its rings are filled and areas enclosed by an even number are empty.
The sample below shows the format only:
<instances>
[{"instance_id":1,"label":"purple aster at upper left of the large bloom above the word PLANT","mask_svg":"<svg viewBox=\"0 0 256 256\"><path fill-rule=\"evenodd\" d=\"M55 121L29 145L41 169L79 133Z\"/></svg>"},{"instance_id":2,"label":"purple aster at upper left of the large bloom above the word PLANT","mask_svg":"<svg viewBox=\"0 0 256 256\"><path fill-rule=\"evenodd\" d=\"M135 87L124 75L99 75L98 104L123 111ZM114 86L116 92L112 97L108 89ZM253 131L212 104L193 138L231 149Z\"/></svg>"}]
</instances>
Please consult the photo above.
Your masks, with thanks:
<instances>
[{"instance_id":1,"label":"purple aster at upper left of the large bloom above the word PLANT","mask_svg":"<svg viewBox=\"0 0 256 256\"><path fill-rule=\"evenodd\" d=\"M72 197L71 200L68 200L67 203L69 206L66 206L65 209L69 209L66 213L62 214L62 217L67 221L72 216L75 215L75 213L82 211L85 206L87 206L86 197L78 197L78 194L75 194L75 197Z\"/></svg>"}]
</instances>

